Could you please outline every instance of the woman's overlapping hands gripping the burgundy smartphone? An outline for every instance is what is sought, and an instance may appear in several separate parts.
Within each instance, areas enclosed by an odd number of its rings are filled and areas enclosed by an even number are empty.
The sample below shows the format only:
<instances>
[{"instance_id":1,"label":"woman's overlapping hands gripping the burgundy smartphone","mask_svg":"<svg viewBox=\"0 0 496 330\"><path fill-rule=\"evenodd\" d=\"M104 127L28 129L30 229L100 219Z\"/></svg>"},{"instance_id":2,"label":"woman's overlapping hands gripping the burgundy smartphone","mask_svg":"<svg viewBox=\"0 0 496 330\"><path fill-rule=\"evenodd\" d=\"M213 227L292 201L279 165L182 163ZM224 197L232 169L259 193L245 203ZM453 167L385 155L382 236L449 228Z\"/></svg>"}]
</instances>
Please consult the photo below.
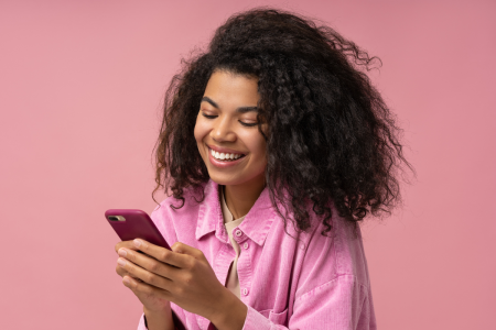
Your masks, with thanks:
<instances>
[{"instance_id":1,"label":"woman's overlapping hands gripping the burgundy smartphone","mask_svg":"<svg viewBox=\"0 0 496 330\"><path fill-rule=\"evenodd\" d=\"M143 240L134 240L134 245L144 254L121 248L119 264L142 283L127 276L126 286L172 301L211 321L225 311L222 305L230 292L218 282L202 251L180 242L171 246L172 251Z\"/></svg>"}]
</instances>

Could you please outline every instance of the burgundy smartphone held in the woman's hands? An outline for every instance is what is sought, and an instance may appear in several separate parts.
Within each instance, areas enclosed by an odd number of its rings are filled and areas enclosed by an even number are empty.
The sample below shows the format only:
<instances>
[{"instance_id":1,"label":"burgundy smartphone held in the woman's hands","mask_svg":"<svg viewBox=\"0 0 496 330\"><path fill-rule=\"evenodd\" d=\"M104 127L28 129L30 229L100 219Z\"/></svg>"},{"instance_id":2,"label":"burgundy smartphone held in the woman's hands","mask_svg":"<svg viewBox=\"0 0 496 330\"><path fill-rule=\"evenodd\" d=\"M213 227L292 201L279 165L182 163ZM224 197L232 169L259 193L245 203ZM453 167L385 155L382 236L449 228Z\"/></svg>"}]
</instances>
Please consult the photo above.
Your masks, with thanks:
<instances>
[{"instance_id":1,"label":"burgundy smartphone held in the woman's hands","mask_svg":"<svg viewBox=\"0 0 496 330\"><path fill-rule=\"evenodd\" d=\"M142 239L171 250L147 212L131 209L111 209L105 212L105 218L122 241Z\"/></svg>"}]
</instances>

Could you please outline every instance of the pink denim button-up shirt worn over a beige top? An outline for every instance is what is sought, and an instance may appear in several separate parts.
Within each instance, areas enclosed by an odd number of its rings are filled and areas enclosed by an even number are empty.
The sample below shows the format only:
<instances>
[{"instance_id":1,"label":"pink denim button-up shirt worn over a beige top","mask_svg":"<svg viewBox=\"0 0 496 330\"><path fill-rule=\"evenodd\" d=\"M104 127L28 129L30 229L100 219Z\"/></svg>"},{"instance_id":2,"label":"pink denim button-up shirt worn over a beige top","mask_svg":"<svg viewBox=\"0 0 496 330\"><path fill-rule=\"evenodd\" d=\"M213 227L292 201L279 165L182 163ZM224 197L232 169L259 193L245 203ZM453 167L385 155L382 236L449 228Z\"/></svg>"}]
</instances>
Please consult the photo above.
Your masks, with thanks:
<instances>
[{"instance_id":1,"label":"pink denim button-up shirt worn over a beige top","mask_svg":"<svg viewBox=\"0 0 496 330\"><path fill-rule=\"evenodd\" d=\"M181 209L170 207L179 205L170 197L151 218L169 244L180 241L201 250L225 284L236 252L224 227L218 185L208 182L200 204L193 194L184 197ZM331 237L323 237L323 224L312 219L315 224L303 233L296 233L288 222L291 238L266 188L233 230L241 248L241 301L248 307L244 330L377 329L359 229L355 238L353 227L334 211ZM209 320L171 306L176 322L180 319L186 329L213 329ZM143 317L138 329L147 329Z\"/></svg>"}]
</instances>

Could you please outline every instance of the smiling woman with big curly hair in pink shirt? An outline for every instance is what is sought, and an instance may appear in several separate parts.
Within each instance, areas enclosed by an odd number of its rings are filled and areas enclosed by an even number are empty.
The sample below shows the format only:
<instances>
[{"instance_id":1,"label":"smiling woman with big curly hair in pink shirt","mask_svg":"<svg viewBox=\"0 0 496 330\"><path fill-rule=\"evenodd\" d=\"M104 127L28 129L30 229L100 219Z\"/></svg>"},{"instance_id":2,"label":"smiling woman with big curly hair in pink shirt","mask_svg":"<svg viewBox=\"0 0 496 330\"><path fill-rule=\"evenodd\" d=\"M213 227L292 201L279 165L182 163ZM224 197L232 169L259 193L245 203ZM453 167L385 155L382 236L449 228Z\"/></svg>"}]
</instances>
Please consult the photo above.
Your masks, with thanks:
<instances>
[{"instance_id":1,"label":"smiling woman with big curly hair in pink shirt","mask_svg":"<svg viewBox=\"0 0 496 330\"><path fill-rule=\"evenodd\" d=\"M231 16L168 89L152 219L116 245L139 329L376 329L357 221L399 200L398 129L327 26ZM140 251L142 253L137 253Z\"/></svg>"}]
</instances>

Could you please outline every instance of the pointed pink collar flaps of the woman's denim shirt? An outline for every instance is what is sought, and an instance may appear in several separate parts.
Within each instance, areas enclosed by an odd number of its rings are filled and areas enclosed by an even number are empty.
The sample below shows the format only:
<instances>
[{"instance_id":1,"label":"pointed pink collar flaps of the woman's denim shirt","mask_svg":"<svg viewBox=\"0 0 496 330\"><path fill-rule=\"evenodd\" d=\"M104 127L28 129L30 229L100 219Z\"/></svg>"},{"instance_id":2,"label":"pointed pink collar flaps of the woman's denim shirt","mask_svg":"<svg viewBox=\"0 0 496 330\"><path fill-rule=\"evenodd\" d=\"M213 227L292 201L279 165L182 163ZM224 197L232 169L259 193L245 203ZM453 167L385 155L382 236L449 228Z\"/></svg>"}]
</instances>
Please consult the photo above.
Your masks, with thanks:
<instances>
[{"instance_id":1,"label":"pointed pink collar flaps of the woman's denim shirt","mask_svg":"<svg viewBox=\"0 0 496 330\"><path fill-rule=\"evenodd\" d=\"M229 239L224 227L224 218L218 195L218 184L213 180L208 180L205 185L204 191L205 198L201 204L198 211L196 240L200 240L207 233L215 231L215 237L227 243ZM266 187L238 228L245 235L261 246L266 241L270 226L276 219L276 216L277 212L272 208L269 190Z\"/></svg>"}]
</instances>

